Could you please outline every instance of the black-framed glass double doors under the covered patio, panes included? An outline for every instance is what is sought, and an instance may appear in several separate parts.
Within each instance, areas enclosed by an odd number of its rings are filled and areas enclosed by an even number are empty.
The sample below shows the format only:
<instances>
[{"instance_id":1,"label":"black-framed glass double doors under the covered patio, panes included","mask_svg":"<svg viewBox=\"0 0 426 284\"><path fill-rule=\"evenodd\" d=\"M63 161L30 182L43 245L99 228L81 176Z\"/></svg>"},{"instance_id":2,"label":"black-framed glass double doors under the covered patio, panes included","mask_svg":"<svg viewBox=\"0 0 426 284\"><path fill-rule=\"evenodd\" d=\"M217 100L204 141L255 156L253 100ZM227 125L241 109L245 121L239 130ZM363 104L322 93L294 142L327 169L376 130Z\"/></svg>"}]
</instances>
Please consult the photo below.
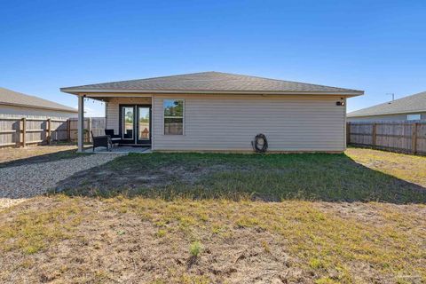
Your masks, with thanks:
<instances>
[{"instance_id":1,"label":"black-framed glass double doors under the covered patio, panes included","mask_svg":"<svg viewBox=\"0 0 426 284\"><path fill-rule=\"evenodd\" d=\"M151 106L120 105L123 144L151 144Z\"/></svg>"}]
</instances>

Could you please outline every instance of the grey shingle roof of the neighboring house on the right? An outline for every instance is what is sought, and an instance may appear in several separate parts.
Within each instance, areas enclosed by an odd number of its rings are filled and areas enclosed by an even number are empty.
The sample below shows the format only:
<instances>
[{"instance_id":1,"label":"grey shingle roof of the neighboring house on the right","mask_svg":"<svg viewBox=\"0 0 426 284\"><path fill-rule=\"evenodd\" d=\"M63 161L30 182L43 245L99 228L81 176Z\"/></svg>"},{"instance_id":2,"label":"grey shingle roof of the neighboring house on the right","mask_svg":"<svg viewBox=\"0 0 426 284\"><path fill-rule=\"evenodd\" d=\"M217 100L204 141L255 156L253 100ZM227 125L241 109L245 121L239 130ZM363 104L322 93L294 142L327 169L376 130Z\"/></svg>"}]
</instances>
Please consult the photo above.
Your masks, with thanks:
<instances>
[{"instance_id":1,"label":"grey shingle roof of the neighboring house on the right","mask_svg":"<svg viewBox=\"0 0 426 284\"><path fill-rule=\"evenodd\" d=\"M348 117L426 112L426 91L349 113Z\"/></svg>"}]
</instances>

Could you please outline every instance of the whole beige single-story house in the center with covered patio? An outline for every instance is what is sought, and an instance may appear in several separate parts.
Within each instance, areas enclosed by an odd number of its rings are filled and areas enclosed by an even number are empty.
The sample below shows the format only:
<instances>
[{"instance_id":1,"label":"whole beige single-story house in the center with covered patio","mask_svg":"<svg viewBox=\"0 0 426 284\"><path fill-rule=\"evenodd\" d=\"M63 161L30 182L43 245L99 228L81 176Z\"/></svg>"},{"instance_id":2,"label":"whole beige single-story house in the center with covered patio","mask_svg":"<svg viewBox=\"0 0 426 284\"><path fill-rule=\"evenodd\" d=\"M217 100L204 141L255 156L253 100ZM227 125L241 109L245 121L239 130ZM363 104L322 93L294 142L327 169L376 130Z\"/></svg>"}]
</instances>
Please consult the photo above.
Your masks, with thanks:
<instances>
[{"instance_id":1,"label":"whole beige single-story house in the center with covered patio","mask_svg":"<svg viewBox=\"0 0 426 284\"><path fill-rule=\"evenodd\" d=\"M346 99L363 91L249 75L203 72L61 88L106 103L106 129L153 151L252 151L263 133L272 152L343 152Z\"/></svg>"}]
</instances>

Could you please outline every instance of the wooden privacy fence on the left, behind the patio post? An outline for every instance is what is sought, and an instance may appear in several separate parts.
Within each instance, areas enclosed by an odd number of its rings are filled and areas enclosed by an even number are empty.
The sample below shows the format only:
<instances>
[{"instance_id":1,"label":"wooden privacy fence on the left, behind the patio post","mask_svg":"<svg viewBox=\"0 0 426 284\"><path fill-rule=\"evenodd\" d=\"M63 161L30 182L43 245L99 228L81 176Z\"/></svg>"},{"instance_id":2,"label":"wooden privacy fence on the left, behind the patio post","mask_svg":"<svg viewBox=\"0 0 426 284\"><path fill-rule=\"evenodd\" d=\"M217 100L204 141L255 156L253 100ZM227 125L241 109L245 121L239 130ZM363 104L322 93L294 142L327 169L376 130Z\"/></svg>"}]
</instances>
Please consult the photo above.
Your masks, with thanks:
<instances>
[{"instance_id":1,"label":"wooden privacy fence on the left, behind the patio post","mask_svg":"<svg viewBox=\"0 0 426 284\"><path fill-rule=\"evenodd\" d=\"M0 117L0 147L73 142L77 139L76 118L17 118ZM84 142L91 142L93 135L104 135L104 117L84 119Z\"/></svg>"}]
</instances>

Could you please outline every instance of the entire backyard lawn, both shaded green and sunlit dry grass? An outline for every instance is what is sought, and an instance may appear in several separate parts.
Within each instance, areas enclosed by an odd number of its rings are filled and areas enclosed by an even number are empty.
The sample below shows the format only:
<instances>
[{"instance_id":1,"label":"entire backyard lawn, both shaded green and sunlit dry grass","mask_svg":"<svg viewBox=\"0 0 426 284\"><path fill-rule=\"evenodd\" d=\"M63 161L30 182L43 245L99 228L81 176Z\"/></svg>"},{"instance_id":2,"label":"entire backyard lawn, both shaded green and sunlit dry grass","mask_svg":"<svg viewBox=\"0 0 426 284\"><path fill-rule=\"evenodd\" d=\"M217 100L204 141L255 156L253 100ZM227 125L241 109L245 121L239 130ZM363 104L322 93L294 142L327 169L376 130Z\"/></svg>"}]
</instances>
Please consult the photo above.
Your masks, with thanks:
<instances>
[{"instance_id":1,"label":"entire backyard lawn, both shaded green and sunlit dry grass","mask_svg":"<svg viewBox=\"0 0 426 284\"><path fill-rule=\"evenodd\" d=\"M122 156L0 211L0 281L422 283L425 161Z\"/></svg>"}]
</instances>

